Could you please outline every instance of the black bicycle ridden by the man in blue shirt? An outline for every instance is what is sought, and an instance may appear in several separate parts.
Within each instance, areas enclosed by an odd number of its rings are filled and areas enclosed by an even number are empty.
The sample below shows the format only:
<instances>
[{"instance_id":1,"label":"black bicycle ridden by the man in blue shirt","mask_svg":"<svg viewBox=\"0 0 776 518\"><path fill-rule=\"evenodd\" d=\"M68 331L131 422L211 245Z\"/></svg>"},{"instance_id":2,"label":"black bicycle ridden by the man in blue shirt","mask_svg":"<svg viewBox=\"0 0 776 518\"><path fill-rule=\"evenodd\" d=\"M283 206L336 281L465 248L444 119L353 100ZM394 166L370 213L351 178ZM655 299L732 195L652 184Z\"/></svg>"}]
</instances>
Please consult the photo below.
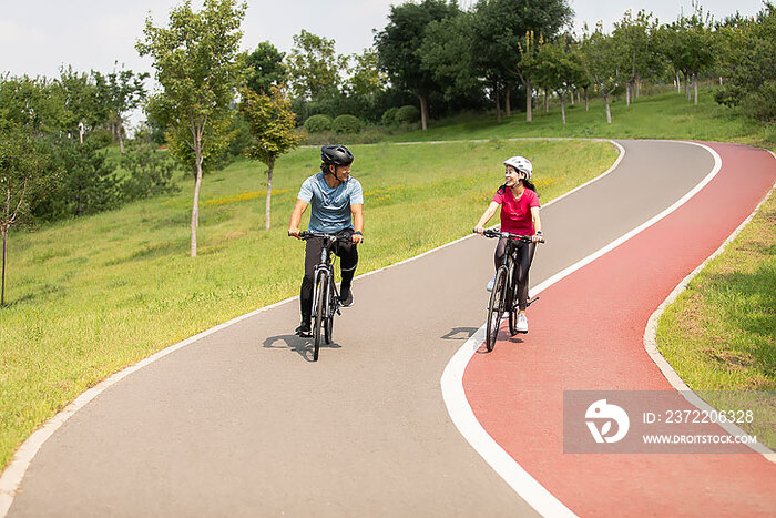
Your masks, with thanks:
<instances>
[{"instance_id":1,"label":"black bicycle ridden by the man in blue shirt","mask_svg":"<svg viewBox=\"0 0 776 518\"><path fill-rule=\"evenodd\" d=\"M349 243L349 235L321 234L317 232L299 232L299 238L307 241L312 237L324 240L320 250L320 261L315 265L313 276L313 362L318 360L320 338L323 335L326 344L330 344L334 333L334 315L339 312L339 292L334 282L334 260L331 258L334 246L338 243Z\"/></svg>"}]
</instances>

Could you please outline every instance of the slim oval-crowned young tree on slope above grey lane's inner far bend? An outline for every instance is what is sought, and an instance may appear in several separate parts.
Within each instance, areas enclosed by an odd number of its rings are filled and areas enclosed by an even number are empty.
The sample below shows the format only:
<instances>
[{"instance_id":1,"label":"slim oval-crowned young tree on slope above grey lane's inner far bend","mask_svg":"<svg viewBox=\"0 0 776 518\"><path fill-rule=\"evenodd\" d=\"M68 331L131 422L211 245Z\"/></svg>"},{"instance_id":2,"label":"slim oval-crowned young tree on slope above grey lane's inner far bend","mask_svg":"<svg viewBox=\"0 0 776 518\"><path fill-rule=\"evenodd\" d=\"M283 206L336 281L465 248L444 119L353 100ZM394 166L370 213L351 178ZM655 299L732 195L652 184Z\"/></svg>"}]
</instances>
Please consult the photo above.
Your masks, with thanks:
<instances>
[{"instance_id":1,"label":"slim oval-crowned young tree on slope above grey lane's inner far bend","mask_svg":"<svg viewBox=\"0 0 776 518\"><path fill-rule=\"evenodd\" d=\"M592 78L606 108L606 122L612 123L609 99L620 87L621 75L615 42L603 32L599 22L592 34L582 40L582 57L586 73Z\"/></svg>"}]
</instances>

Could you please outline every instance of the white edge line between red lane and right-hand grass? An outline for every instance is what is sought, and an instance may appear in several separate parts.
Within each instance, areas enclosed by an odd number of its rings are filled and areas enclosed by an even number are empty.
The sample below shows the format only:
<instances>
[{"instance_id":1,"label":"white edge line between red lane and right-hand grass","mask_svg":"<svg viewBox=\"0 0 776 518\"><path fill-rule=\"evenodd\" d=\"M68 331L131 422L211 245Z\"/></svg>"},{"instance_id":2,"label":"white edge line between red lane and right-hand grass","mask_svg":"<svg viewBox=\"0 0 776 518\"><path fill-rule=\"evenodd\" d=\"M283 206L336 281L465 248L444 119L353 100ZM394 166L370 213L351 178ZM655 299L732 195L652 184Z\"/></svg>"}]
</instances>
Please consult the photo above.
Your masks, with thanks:
<instances>
[{"instance_id":1,"label":"white edge line between red lane and right-hand grass","mask_svg":"<svg viewBox=\"0 0 776 518\"><path fill-rule=\"evenodd\" d=\"M776 158L776 155L774 155ZM775 185L776 187L776 185ZM692 405L694 405L696 408L705 412L716 412L716 408L713 408L709 404L704 402L697 394L695 394L691 388L684 383L684 380L680 377L678 374L676 374L676 370L674 370L674 367L671 366L671 364L663 357L663 355L657 351L657 341L656 341L656 334L657 334L657 322L660 321L661 315L663 315L663 312L665 312L665 308L668 307L671 304L676 301L676 297L684 292L687 288L687 285L690 284L690 281L692 281L703 268L706 267L706 265L717 255L722 254L723 251L727 247L727 245L736 238L738 234L744 230L746 225L749 224L752 219L757 214L759 211L760 206L770 197L773 194L774 187L770 187L770 191L768 194L760 201L757 206L755 207L754 211L752 211L752 214L744 220L744 222L738 225L738 227L733 231L733 233L724 241L722 245L708 257L706 257L706 261L701 263L698 267L693 270L686 277L684 277L678 285L674 288L673 292L663 301L663 303L657 306L657 309L654 311L652 316L650 316L650 319L646 323L646 328L644 329L644 348L646 349L646 353L650 355L652 360L657 365L657 367L661 369L663 373L663 376L668 380L668 383L676 389L680 390L682 396ZM722 426L725 431L727 431L731 435L734 436L742 436L742 435L748 435L746 431L742 430L739 427L734 425L733 423L718 423L719 426ZM772 451L768 447L760 443L746 443L746 446L752 448L753 450L757 451L758 454L762 454L766 459L770 460L772 463L776 463L776 454Z\"/></svg>"}]
</instances>

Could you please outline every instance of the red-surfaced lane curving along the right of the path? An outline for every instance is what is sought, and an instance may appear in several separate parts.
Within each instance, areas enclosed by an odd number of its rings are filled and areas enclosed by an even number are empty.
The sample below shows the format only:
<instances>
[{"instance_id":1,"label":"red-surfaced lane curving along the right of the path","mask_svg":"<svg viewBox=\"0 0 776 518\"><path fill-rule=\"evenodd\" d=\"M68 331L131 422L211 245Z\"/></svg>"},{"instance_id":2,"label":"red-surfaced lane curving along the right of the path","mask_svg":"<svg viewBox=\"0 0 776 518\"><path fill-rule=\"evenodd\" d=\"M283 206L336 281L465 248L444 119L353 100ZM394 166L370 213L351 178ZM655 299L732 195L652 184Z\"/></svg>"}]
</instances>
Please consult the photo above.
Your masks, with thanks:
<instances>
[{"instance_id":1,"label":"red-surfaced lane curving along the right of the path","mask_svg":"<svg viewBox=\"0 0 776 518\"><path fill-rule=\"evenodd\" d=\"M482 427L580 516L776 514L776 465L757 454L563 453L564 390L672 389L644 349L647 319L776 181L769 153L706 145L722 158L707 185L545 288L529 312L530 334L510 338L502 326L493 352L467 366L463 388Z\"/></svg>"}]
</instances>

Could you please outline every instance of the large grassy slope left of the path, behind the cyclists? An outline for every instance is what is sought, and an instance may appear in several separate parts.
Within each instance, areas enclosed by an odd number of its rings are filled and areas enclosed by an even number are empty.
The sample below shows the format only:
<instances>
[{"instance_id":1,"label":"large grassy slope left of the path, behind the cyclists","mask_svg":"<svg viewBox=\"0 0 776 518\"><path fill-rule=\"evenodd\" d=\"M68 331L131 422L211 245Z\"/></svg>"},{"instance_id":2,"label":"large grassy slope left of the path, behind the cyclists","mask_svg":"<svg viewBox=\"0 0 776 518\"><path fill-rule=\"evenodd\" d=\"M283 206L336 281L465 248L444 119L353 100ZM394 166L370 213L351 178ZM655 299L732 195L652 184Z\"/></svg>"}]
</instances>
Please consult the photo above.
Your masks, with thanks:
<instances>
[{"instance_id":1,"label":"large grassy slope left of the path, behind the cyclists","mask_svg":"<svg viewBox=\"0 0 776 518\"><path fill-rule=\"evenodd\" d=\"M503 180L507 156L533 161L543 202L616 158L610 144L580 141L353 149L354 176L366 192L359 273L470 233ZM206 175L196 258L188 257L188 179L170 197L12 232L8 306L0 311L0 466L38 426L111 373L297 294L304 245L286 236L287 222L299 185L318 165L317 149L278 161L269 232L263 165L238 161Z\"/></svg>"}]
</instances>

